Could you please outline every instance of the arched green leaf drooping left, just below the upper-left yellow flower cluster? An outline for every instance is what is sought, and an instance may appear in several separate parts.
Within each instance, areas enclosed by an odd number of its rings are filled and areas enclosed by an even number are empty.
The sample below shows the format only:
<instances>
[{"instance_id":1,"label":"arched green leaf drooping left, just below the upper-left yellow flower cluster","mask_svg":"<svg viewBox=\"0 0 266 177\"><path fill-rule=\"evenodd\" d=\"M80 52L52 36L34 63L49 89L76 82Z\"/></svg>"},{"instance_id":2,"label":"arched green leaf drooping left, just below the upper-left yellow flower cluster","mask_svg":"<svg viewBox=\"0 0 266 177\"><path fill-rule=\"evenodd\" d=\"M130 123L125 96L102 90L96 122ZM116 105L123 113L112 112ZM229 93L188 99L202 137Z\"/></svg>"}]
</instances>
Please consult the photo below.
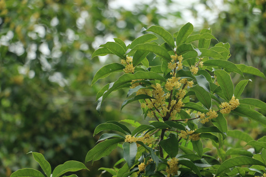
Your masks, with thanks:
<instances>
[{"instance_id":1,"label":"arched green leaf drooping left, just below the upper-left yellow flower cluster","mask_svg":"<svg viewBox=\"0 0 266 177\"><path fill-rule=\"evenodd\" d=\"M111 64L107 64L107 65L103 66L94 75L92 85L94 83L96 83L99 79L102 79L102 78L109 76L111 73L123 71L124 68L125 68L125 66L123 66L122 64L119 64L119 63L111 63Z\"/></svg>"}]
</instances>

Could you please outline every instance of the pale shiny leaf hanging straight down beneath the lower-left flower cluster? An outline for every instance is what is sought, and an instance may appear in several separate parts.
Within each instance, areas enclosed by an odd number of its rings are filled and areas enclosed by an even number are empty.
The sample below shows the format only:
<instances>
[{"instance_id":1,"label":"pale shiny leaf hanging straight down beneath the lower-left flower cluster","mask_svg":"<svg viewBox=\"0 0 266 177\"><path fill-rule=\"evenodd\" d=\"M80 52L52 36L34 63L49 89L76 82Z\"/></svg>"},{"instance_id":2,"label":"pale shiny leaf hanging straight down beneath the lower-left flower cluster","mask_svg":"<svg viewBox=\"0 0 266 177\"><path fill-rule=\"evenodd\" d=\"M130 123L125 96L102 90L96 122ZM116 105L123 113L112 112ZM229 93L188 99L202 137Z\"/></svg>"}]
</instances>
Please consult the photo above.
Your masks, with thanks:
<instances>
[{"instance_id":1,"label":"pale shiny leaf hanging straight down beneath the lower-left flower cluster","mask_svg":"<svg viewBox=\"0 0 266 177\"><path fill-rule=\"evenodd\" d=\"M123 144L123 154L124 154L124 159L128 163L129 168L131 168L134 165L135 162L135 157L137 154L137 146L135 142L128 143L125 142Z\"/></svg>"}]
</instances>

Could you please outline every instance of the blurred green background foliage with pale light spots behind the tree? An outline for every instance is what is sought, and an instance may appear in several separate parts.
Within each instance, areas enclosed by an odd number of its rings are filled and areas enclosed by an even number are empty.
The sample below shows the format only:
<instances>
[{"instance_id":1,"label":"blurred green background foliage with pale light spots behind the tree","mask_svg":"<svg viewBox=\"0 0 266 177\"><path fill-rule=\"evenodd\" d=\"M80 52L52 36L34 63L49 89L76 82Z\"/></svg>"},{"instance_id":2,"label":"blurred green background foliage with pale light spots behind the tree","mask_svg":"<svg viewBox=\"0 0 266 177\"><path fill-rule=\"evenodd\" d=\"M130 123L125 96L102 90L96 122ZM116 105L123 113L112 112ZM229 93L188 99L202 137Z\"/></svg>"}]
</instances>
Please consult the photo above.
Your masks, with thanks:
<instances>
[{"instance_id":1,"label":"blurred green background foliage with pale light spots behind the tree","mask_svg":"<svg viewBox=\"0 0 266 177\"><path fill-rule=\"evenodd\" d=\"M199 3L210 11L219 9L213 8L212 2ZM29 151L43 153L52 168L66 160L83 162L97 140L92 132L98 124L140 117L133 107L120 115L122 100L119 99L109 99L101 115L95 111L97 91L109 81L107 78L105 83L90 87L93 75L102 66L97 59L92 64L91 54L113 37L131 41L139 36L142 27L164 27L160 22L170 17L182 25L186 19L182 11L158 13L156 6L160 3L156 0L153 5L136 5L131 10L112 9L109 3L108 0L0 0L0 176L35 167L32 158L25 155ZM176 4L172 0L164 3L167 7ZM216 22L212 24L206 19L202 26L211 27L219 41L231 44L230 60L255 66L265 73L266 1L224 3L227 8L219 10ZM195 17L200 15L193 6L188 10ZM175 31L177 27L167 26L167 29ZM109 56L106 62L114 59ZM266 102L265 80L252 80L245 94ZM97 164L107 167L116 161L117 155L103 159L105 165L96 162L95 170L89 173L96 176Z\"/></svg>"}]
</instances>

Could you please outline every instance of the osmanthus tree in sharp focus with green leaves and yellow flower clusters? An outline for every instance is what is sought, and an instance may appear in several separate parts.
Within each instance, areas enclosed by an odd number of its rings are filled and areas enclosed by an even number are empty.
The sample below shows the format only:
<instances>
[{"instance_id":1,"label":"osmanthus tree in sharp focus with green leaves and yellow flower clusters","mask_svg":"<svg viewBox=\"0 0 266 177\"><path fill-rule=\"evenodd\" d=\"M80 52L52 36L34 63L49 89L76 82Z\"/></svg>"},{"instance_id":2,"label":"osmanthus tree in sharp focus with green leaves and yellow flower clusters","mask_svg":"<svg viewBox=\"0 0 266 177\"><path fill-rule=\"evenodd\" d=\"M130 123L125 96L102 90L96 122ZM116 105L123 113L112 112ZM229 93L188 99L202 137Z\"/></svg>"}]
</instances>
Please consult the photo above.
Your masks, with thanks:
<instances>
[{"instance_id":1,"label":"osmanthus tree in sharp focus with green leaves and yellow flower clusters","mask_svg":"<svg viewBox=\"0 0 266 177\"><path fill-rule=\"evenodd\" d=\"M94 135L106 130L115 132L100 136L100 143L87 153L85 163L93 163L119 147L124 157L112 169L100 168L113 177L266 176L265 137L254 140L240 130L229 131L225 118L233 113L266 125L266 117L254 109L266 109L266 103L240 99L249 80L243 79L234 87L230 76L234 72L244 78L247 72L265 78L264 74L254 67L228 61L228 43L210 48L210 40L216 39L211 29L191 35L193 26L187 23L173 35L159 26L146 31L128 46L118 38L101 45L92 57L113 54L121 63L103 66L92 84L111 73L124 72L98 92L97 110L111 92L129 89L121 109L139 101L144 118L151 121L126 121L133 128L118 121L98 125ZM160 58L161 64L150 66L149 53ZM235 147L232 140L226 140L227 136L245 143ZM208 148L209 142L212 148ZM33 152L33 156L49 177L49 163L39 153ZM68 161L56 167L52 177L81 169L86 169L84 164ZM18 170L11 177L25 174L43 177L34 169Z\"/></svg>"}]
</instances>

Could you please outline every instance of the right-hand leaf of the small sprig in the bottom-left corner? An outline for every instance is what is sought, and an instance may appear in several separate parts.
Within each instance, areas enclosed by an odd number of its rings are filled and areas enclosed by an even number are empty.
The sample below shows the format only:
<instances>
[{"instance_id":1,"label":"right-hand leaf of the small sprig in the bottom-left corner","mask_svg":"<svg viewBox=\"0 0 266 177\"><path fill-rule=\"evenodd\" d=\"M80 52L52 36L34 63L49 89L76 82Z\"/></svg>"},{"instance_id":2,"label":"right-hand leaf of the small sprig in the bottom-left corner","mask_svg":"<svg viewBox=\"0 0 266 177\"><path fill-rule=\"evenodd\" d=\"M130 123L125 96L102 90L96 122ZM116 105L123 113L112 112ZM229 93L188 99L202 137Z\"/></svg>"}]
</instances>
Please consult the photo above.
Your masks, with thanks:
<instances>
[{"instance_id":1,"label":"right-hand leaf of the small sprig in the bottom-left corner","mask_svg":"<svg viewBox=\"0 0 266 177\"><path fill-rule=\"evenodd\" d=\"M54 169L53 177L60 177L66 172L76 172L82 169L88 170L83 163L74 160L69 160Z\"/></svg>"}]
</instances>

